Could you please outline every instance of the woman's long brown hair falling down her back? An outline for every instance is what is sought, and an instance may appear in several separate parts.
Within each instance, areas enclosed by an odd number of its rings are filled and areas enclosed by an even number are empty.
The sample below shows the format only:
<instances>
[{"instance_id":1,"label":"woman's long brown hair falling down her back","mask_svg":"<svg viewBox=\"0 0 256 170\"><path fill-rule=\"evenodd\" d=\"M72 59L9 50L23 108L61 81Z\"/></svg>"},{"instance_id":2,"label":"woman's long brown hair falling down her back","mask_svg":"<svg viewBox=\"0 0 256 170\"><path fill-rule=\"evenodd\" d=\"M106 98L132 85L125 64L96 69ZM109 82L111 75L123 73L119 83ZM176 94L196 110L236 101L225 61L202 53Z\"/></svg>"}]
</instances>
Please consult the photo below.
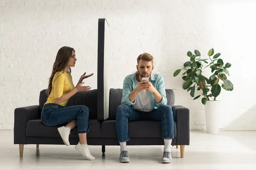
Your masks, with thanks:
<instances>
[{"instance_id":1,"label":"woman's long brown hair falling down her back","mask_svg":"<svg viewBox=\"0 0 256 170\"><path fill-rule=\"evenodd\" d=\"M72 56L72 52L75 52L74 48L71 47L61 47L57 53L55 62L53 64L52 67L52 75L49 78L49 85L48 88L46 90L46 94L49 96L51 91L52 91L52 79L55 75L55 73L57 73L58 71L62 71L64 73L64 69L67 66L67 63L70 60L70 57ZM71 73L71 68L69 68L69 71ZM57 78L57 77L56 77Z\"/></svg>"}]
</instances>

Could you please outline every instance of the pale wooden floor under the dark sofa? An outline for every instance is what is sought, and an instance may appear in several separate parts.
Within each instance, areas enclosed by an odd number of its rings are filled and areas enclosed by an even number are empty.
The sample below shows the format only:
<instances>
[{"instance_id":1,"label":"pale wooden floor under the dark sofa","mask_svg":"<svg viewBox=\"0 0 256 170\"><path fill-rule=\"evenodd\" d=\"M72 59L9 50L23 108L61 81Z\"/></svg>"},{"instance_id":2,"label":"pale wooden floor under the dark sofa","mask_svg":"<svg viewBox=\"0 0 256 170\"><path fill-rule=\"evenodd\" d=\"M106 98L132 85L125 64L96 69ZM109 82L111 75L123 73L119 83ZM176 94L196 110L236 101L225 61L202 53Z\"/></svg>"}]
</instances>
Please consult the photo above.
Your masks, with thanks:
<instances>
[{"instance_id":1,"label":"pale wooden floor under the dark sofa","mask_svg":"<svg viewBox=\"0 0 256 170\"><path fill-rule=\"evenodd\" d=\"M0 130L0 170L256 170L256 131L190 132L185 157L172 148L173 162L162 164L163 146L128 146L130 163L119 162L119 146L90 146L96 157L84 160L65 145L24 145L23 157L13 144L13 131Z\"/></svg>"}]
</instances>

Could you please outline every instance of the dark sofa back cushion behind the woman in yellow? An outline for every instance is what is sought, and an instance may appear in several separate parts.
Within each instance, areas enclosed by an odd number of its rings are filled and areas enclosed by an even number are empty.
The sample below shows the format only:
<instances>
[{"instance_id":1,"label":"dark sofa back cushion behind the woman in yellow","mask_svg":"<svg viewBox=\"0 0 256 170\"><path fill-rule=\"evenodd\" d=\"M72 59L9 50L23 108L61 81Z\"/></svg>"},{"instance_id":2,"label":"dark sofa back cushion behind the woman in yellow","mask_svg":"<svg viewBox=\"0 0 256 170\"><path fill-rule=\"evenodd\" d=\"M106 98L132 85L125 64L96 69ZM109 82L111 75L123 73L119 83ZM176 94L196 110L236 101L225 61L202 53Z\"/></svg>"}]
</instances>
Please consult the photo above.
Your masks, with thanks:
<instances>
[{"instance_id":1,"label":"dark sofa back cushion behind the woman in yellow","mask_svg":"<svg viewBox=\"0 0 256 170\"><path fill-rule=\"evenodd\" d=\"M42 90L39 96L40 112L47 101L46 90ZM90 108L89 119L97 119L97 89L90 91L82 91L76 94L75 98L70 98L67 102L67 106L73 105L85 105Z\"/></svg>"}]
</instances>

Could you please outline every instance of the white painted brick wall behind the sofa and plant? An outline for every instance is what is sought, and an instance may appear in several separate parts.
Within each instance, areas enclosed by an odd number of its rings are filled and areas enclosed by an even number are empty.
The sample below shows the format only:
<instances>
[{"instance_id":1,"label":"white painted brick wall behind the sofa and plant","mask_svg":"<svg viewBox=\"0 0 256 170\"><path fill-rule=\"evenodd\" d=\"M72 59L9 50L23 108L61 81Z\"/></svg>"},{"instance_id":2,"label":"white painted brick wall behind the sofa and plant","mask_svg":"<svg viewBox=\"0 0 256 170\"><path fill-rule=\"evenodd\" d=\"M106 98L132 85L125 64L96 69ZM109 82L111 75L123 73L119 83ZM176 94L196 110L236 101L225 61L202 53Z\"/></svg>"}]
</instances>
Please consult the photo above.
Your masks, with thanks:
<instances>
[{"instance_id":1,"label":"white painted brick wall behind the sofa and plant","mask_svg":"<svg viewBox=\"0 0 256 170\"><path fill-rule=\"evenodd\" d=\"M112 88L122 88L137 56L148 52L166 88L174 89L175 104L190 109L191 129L204 130L204 106L172 74L188 60L187 51L207 54L213 47L233 64L234 91L218 98L220 128L256 130L255 6L249 0L1 0L0 129L13 128L15 108L38 105L64 45L76 49L74 84L86 71L94 75L85 84L97 88L98 18L105 17L111 26Z\"/></svg>"}]
</instances>

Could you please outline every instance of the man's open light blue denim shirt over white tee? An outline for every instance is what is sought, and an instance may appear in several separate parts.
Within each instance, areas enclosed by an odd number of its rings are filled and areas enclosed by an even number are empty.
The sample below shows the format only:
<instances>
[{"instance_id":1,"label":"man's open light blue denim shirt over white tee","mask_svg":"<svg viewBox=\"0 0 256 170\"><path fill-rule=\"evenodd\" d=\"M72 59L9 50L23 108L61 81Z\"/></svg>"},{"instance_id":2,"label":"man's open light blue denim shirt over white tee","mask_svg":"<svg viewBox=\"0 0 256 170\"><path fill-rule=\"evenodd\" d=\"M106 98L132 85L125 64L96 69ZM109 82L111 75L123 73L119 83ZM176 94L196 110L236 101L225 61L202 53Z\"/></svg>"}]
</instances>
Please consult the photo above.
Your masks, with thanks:
<instances>
[{"instance_id":1,"label":"man's open light blue denim shirt over white tee","mask_svg":"<svg viewBox=\"0 0 256 170\"><path fill-rule=\"evenodd\" d=\"M122 104L126 104L130 107L132 107L136 103L136 99L134 100L134 102L131 102L129 99L129 94L131 93L131 91L134 90L134 88L137 87L136 74L138 74L138 71L134 74L126 76L123 84ZM149 81L152 83L154 88L156 88L157 91L162 95L162 101L160 103L156 103L154 95L148 91L148 95L151 101L151 108L157 109L162 105L166 105L167 99L163 77L159 74L151 73Z\"/></svg>"}]
</instances>

